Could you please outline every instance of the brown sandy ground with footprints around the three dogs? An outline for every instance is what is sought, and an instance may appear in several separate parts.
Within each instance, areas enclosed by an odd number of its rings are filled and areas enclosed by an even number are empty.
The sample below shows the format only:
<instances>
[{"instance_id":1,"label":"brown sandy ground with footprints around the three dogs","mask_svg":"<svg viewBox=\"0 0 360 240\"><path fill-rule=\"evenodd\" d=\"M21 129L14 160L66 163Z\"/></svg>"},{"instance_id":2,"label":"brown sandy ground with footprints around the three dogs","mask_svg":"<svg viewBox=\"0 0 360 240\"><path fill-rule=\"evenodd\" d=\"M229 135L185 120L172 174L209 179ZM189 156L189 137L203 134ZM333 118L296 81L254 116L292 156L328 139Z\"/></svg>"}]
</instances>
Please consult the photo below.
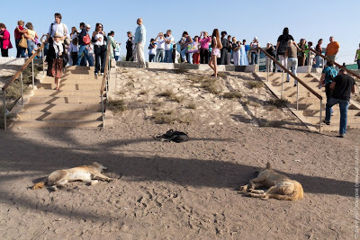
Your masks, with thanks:
<instances>
[{"instance_id":1,"label":"brown sandy ground with footprints around the three dogs","mask_svg":"<svg viewBox=\"0 0 360 240\"><path fill-rule=\"evenodd\" d=\"M253 95L243 91L247 99L240 102L194 97L197 109L186 111L190 124L155 123L149 98L130 104L109 129L0 132L0 238L353 239L360 131L336 138L308 131L286 110L257 115L267 106L247 107ZM271 98L266 90L254 95ZM220 109L211 107L220 100ZM180 111L187 104L176 103L160 106ZM278 124L258 124L262 119ZM183 130L191 140L153 138L167 129ZM29 189L54 170L93 161L119 179L73 182L56 192ZM303 200L260 200L237 191L268 161L302 183Z\"/></svg>"}]
</instances>

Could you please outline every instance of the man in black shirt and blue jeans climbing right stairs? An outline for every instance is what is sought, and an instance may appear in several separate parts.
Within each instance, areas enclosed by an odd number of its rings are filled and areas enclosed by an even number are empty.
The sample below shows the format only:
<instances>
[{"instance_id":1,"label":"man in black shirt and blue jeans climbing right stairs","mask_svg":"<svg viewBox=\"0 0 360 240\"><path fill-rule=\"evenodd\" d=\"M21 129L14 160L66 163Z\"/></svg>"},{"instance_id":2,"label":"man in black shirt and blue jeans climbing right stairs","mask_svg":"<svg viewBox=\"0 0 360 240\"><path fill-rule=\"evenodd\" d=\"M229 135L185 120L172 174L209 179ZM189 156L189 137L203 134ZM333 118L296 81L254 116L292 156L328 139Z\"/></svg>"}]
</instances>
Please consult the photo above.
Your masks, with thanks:
<instances>
[{"instance_id":1,"label":"man in black shirt and blue jeans climbing right stairs","mask_svg":"<svg viewBox=\"0 0 360 240\"><path fill-rule=\"evenodd\" d=\"M334 78L330 84L330 88L334 89L331 97L326 104L326 116L324 122L329 125L331 118L331 107L335 104L340 106L340 138L344 138L347 133L347 108L350 102L350 94L355 93L355 81L351 76L347 75L347 71L341 69L338 76Z\"/></svg>"}]
</instances>

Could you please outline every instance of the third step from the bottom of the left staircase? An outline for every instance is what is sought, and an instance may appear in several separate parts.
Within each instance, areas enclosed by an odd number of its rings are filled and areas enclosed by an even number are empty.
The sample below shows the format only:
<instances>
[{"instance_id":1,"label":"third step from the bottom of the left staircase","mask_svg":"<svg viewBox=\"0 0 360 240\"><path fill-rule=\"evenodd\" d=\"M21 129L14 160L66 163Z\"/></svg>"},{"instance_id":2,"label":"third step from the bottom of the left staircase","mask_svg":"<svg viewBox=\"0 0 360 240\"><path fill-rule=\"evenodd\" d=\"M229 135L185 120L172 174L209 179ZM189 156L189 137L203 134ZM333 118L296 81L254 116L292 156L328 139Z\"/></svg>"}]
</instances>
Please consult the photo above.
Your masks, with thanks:
<instances>
[{"instance_id":1,"label":"third step from the bottom of the left staircase","mask_svg":"<svg viewBox=\"0 0 360 240\"><path fill-rule=\"evenodd\" d=\"M99 103L40 103L40 104L25 104L24 111L41 111L41 112L56 112L56 111L101 111L102 105Z\"/></svg>"}]
</instances>

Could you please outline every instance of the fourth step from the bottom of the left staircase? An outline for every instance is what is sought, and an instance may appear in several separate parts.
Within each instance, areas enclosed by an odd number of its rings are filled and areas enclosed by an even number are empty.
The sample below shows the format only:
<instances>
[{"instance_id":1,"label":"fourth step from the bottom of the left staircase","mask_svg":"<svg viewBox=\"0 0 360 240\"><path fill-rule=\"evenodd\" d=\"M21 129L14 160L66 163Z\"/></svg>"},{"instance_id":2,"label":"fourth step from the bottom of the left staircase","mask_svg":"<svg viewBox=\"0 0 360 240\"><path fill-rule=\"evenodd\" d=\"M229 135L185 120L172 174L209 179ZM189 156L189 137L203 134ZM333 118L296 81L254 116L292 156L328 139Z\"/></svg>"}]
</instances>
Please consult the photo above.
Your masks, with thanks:
<instances>
[{"instance_id":1,"label":"fourth step from the bottom of the left staircase","mask_svg":"<svg viewBox=\"0 0 360 240\"><path fill-rule=\"evenodd\" d=\"M85 96L69 96L69 97L40 97L33 96L30 98L30 103L101 103L100 97L85 97Z\"/></svg>"}]
</instances>

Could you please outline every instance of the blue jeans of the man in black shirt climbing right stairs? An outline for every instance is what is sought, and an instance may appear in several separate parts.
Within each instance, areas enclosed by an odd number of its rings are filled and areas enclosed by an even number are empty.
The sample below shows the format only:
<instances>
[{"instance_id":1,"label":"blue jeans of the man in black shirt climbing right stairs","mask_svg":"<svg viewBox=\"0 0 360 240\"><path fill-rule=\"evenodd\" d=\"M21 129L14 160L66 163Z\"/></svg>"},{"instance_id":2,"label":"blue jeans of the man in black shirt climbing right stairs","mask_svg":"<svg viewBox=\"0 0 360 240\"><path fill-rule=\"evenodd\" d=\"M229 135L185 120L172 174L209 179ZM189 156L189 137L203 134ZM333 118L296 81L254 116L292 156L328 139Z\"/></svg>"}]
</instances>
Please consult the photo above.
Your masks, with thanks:
<instances>
[{"instance_id":1,"label":"blue jeans of the man in black shirt climbing right stairs","mask_svg":"<svg viewBox=\"0 0 360 240\"><path fill-rule=\"evenodd\" d=\"M339 134L345 135L347 133L347 109L349 101L344 99L338 99L330 97L326 104L325 120L330 121L331 119L331 107L335 104L340 106L340 129Z\"/></svg>"}]
</instances>

